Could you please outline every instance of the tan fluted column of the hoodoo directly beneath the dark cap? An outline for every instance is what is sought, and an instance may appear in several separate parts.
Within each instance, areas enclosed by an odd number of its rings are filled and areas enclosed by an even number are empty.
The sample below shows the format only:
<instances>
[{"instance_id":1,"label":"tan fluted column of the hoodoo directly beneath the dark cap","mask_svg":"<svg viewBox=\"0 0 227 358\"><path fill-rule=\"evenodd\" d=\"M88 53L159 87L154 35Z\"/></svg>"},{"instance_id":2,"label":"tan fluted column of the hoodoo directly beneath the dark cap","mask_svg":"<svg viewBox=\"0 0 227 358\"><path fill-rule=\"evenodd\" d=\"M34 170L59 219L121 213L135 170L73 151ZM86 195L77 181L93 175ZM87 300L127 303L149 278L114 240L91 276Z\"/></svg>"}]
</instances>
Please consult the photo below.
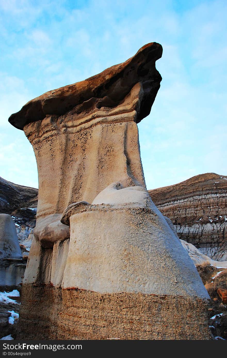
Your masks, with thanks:
<instances>
[{"instance_id":1,"label":"tan fluted column of the hoodoo directly beneath the dark cap","mask_svg":"<svg viewBox=\"0 0 227 358\"><path fill-rule=\"evenodd\" d=\"M39 170L37 219L63 213L73 202L92 202L116 178L125 186L145 186L136 112L118 118L111 111L116 109L96 109L98 120L91 115L88 127L79 125L78 115L68 113L24 128Z\"/></svg>"}]
</instances>

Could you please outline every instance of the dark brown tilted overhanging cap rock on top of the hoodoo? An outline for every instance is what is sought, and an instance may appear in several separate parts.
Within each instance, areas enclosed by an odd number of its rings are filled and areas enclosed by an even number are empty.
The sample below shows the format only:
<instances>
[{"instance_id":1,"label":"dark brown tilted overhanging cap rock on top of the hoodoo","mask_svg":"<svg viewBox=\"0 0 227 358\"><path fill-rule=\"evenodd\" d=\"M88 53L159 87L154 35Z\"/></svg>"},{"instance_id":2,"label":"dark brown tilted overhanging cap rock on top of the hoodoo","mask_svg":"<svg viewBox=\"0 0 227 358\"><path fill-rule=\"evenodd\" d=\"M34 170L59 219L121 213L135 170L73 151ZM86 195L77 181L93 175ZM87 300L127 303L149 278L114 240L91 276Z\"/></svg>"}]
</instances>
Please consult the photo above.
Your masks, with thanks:
<instances>
[{"instance_id":1,"label":"dark brown tilted overhanging cap rock on top of the hoodoo","mask_svg":"<svg viewBox=\"0 0 227 358\"><path fill-rule=\"evenodd\" d=\"M109 67L84 81L54 89L34 98L19 112L12 114L9 122L23 130L26 124L42 120L46 115L63 115L90 98L100 98L100 107L114 107L128 95L136 83L141 83L143 98L136 119L138 123L150 113L160 87L162 77L155 67L155 62L161 56L160 44L152 42L144 45L123 63Z\"/></svg>"}]
</instances>

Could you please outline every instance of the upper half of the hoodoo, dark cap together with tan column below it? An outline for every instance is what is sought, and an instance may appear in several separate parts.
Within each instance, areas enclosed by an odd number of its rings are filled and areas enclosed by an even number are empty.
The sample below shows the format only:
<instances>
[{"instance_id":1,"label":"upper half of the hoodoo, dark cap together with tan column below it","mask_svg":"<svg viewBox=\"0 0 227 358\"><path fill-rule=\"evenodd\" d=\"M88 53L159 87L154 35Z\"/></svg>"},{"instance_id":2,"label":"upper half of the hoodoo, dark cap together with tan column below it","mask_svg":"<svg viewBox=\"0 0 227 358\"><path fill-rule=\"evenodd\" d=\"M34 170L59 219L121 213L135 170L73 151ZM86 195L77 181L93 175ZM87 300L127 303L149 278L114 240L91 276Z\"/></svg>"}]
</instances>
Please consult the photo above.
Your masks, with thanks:
<instances>
[{"instance_id":1,"label":"upper half of the hoodoo, dark cap together with tan column below it","mask_svg":"<svg viewBox=\"0 0 227 358\"><path fill-rule=\"evenodd\" d=\"M136 123L149 114L160 87L155 61L161 55L161 45L146 45L128 61L47 92L11 115L34 148L37 219L72 202L92 202L118 179L145 186Z\"/></svg>"}]
</instances>

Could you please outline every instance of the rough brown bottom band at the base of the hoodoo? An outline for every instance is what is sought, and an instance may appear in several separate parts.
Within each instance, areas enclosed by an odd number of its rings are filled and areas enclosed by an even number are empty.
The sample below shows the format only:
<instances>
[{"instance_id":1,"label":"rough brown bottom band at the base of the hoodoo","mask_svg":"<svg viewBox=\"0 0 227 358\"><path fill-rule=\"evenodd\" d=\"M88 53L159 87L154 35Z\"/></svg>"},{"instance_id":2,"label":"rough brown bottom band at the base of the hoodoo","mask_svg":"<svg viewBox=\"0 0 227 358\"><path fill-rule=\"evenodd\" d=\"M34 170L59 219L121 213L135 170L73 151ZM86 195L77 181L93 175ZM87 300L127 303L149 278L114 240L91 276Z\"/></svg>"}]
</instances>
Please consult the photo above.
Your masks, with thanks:
<instances>
[{"instance_id":1,"label":"rough brown bottom band at the base of the hoodoo","mask_svg":"<svg viewBox=\"0 0 227 358\"><path fill-rule=\"evenodd\" d=\"M198 298L27 284L22 297L16 339L211 339Z\"/></svg>"}]
</instances>

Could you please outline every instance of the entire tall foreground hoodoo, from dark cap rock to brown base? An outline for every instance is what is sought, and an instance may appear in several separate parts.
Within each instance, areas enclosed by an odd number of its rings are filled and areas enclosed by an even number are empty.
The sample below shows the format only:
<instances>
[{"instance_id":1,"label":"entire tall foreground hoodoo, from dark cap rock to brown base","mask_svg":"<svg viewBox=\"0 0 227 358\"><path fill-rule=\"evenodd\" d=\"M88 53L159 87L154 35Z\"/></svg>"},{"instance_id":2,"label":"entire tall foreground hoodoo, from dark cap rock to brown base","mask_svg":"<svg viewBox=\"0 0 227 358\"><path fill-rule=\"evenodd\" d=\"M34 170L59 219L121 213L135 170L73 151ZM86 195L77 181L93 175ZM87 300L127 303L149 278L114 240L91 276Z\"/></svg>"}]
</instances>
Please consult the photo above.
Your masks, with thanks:
<instances>
[{"instance_id":1,"label":"entire tall foreground hoodoo, from dark cap rock to brown base","mask_svg":"<svg viewBox=\"0 0 227 358\"><path fill-rule=\"evenodd\" d=\"M209 339L209 296L150 200L140 160L137 123L159 89L161 55L147 44L9 118L39 172L17 338Z\"/></svg>"}]
</instances>

